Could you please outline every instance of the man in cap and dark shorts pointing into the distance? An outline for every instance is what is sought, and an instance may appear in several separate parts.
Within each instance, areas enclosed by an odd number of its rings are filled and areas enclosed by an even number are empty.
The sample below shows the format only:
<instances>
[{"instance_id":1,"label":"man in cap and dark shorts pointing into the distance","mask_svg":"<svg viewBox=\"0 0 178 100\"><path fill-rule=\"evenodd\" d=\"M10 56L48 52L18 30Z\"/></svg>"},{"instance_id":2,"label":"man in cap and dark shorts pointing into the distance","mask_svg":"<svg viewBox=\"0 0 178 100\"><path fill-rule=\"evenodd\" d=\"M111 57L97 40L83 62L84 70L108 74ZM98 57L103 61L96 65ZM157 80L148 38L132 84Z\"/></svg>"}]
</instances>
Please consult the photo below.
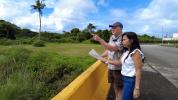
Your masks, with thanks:
<instances>
[{"instance_id":1,"label":"man in cap and dark shorts pointing into the distance","mask_svg":"<svg viewBox=\"0 0 178 100\"><path fill-rule=\"evenodd\" d=\"M102 57L108 57L110 60L119 59L122 55L123 46L121 44L123 25L120 22L115 22L111 27L112 36L109 43L105 42L98 35L93 34L93 39L103 45L106 50ZM121 65L115 66L108 64L108 82L114 87L116 100L120 100L122 79L121 79Z\"/></svg>"}]
</instances>

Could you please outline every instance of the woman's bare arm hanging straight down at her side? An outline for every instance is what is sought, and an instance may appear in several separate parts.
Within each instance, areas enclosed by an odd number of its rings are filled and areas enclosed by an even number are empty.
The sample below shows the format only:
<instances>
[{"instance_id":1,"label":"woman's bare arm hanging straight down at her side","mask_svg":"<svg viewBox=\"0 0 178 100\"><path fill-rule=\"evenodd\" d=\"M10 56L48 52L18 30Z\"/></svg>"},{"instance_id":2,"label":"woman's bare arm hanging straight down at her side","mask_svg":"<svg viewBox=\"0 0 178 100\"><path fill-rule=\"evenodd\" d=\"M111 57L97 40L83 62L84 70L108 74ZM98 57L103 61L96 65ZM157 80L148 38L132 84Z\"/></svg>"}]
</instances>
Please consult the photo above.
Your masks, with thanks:
<instances>
[{"instance_id":1,"label":"woman's bare arm hanging straight down at her side","mask_svg":"<svg viewBox=\"0 0 178 100\"><path fill-rule=\"evenodd\" d=\"M135 88L134 88L134 97L138 97L140 95L140 82L141 82L141 69L142 69L142 58L138 51L136 51L132 55L132 59L135 64L135 71L136 71L136 81L135 81Z\"/></svg>"}]
</instances>

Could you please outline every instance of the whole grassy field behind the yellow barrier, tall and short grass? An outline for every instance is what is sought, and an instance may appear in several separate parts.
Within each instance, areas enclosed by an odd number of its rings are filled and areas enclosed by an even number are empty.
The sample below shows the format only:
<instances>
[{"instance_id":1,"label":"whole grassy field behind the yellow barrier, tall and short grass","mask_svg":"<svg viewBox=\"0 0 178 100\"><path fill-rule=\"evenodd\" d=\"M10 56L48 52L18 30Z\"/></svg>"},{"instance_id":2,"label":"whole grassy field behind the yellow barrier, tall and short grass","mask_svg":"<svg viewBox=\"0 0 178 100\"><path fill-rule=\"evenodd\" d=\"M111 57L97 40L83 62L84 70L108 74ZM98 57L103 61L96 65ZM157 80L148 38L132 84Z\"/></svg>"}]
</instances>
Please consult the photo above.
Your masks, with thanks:
<instances>
[{"instance_id":1,"label":"whole grassy field behind the yellow barrier, tall and short grass","mask_svg":"<svg viewBox=\"0 0 178 100\"><path fill-rule=\"evenodd\" d=\"M96 60L100 45L47 43L0 46L0 100L48 100Z\"/></svg>"}]
</instances>

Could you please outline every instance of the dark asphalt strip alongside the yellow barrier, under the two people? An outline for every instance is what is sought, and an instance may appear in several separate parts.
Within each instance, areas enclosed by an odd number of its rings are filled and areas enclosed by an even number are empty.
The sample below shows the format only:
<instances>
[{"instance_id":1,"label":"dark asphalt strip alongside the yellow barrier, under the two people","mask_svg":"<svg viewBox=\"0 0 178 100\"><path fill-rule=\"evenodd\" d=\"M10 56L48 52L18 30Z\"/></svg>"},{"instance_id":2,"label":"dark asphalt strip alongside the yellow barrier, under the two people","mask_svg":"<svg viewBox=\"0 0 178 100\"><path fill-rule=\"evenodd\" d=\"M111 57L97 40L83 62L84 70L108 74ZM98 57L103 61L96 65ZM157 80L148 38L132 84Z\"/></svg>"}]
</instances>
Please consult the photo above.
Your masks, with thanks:
<instances>
[{"instance_id":1,"label":"dark asphalt strip alongside the yellow barrier, under the two people","mask_svg":"<svg viewBox=\"0 0 178 100\"><path fill-rule=\"evenodd\" d=\"M107 100L115 100L113 87ZM178 89L146 62L142 71L141 96L137 100L178 100Z\"/></svg>"}]
</instances>

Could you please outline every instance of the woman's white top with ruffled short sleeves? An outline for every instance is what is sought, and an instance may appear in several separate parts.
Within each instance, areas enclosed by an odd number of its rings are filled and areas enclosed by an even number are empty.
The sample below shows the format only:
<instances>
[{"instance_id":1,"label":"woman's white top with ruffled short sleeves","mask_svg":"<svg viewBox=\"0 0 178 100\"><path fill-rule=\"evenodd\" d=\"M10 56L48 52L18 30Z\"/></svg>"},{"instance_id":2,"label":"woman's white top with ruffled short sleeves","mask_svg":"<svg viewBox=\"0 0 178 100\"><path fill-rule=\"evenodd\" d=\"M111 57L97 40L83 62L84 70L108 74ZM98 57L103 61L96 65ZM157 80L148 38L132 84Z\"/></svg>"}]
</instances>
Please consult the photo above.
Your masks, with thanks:
<instances>
[{"instance_id":1,"label":"woman's white top with ruffled short sleeves","mask_svg":"<svg viewBox=\"0 0 178 100\"><path fill-rule=\"evenodd\" d=\"M122 63L121 74L123 76L128 76L128 77L135 76L135 64L134 64L134 61L133 61L131 55L134 54L136 51L139 51L139 53L141 54L142 59L144 59L144 54L139 49L135 49L130 54L129 54L129 51L124 52L123 56L121 57L121 63ZM128 58L126 58L127 55L128 55Z\"/></svg>"}]
</instances>

